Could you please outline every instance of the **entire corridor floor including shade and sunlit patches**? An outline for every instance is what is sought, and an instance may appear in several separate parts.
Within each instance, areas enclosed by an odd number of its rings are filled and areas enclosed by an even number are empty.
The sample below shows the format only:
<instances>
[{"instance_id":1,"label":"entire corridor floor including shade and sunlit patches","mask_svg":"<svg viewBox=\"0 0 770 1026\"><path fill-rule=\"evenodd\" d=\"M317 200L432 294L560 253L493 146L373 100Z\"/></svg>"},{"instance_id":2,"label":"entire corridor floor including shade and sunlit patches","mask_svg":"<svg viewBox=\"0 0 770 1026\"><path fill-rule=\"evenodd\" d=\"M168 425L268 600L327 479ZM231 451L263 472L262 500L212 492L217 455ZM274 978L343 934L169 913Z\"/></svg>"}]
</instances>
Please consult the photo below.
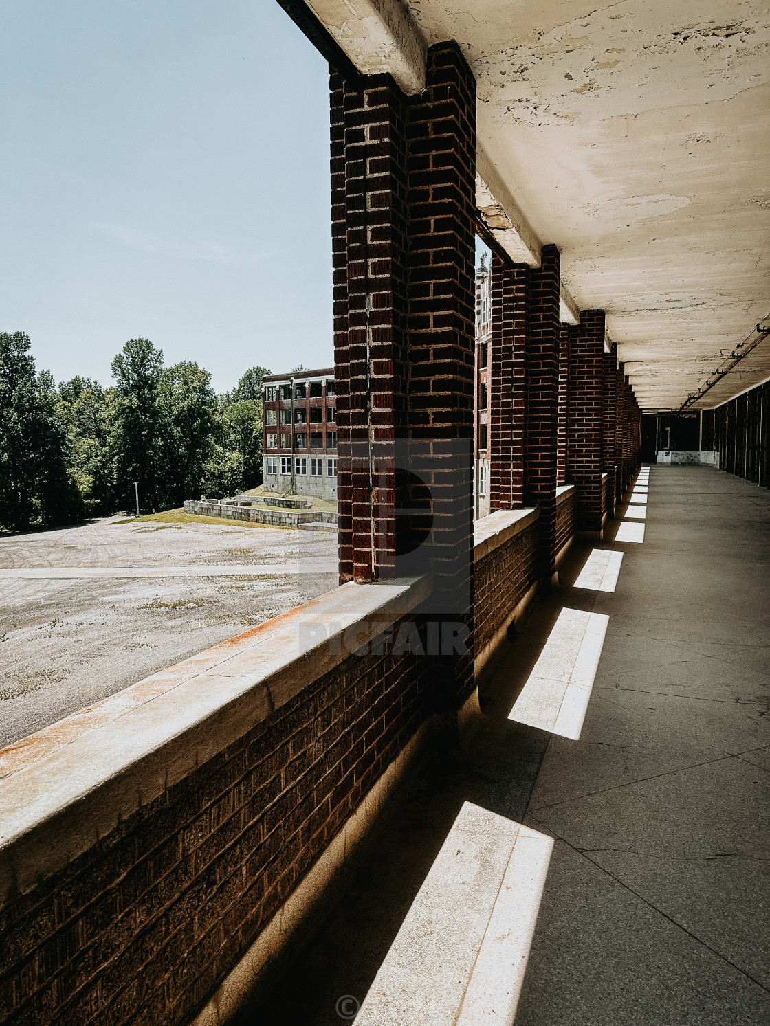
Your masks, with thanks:
<instances>
[{"instance_id":1,"label":"entire corridor floor including shade and sunlit patches","mask_svg":"<svg viewBox=\"0 0 770 1026\"><path fill-rule=\"evenodd\" d=\"M644 540L576 543L244 1022L770 1021L770 495L654 466L628 498L608 534Z\"/></svg>"}]
</instances>

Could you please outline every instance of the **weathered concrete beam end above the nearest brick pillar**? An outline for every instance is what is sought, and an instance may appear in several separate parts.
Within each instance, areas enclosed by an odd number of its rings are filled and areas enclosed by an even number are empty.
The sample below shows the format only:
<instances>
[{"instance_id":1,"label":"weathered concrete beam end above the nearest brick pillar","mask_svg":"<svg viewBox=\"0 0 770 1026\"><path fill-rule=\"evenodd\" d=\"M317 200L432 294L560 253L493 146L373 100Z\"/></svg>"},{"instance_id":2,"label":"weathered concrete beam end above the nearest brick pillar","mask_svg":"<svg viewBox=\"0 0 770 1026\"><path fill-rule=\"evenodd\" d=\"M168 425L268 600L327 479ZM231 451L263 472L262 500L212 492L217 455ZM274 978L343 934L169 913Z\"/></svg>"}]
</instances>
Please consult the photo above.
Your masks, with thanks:
<instances>
[{"instance_id":1,"label":"weathered concrete beam end above the nearest brick pillar","mask_svg":"<svg viewBox=\"0 0 770 1026\"><path fill-rule=\"evenodd\" d=\"M427 46L400 0L305 0L363 75L392 75L412 96L425 88Z\"/></svg>"}]
</instances>

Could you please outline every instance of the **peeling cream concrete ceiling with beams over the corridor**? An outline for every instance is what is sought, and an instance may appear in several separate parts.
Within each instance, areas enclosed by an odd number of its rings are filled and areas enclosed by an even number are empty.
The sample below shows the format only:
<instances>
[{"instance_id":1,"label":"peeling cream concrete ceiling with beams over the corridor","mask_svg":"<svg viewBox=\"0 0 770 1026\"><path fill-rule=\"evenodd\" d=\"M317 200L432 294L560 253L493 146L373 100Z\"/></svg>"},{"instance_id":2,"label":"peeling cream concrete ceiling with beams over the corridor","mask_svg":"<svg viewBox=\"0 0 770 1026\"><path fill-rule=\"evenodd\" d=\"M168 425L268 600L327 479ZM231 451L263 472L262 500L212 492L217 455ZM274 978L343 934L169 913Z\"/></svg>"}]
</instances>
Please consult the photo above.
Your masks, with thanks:
<instances>
[{"instance_id":1,"label":"peeling cream concrete ceiling with beams over the corridor","mask_svg":"<svg viewBox=\"0 0 770 1026\"><path fill-rule=\"evenodd\" d=\"M505 210L507 197L521 242L509 251L534 261L537 240L559 246L568 295L607 311L643 408L679 407L767 315L767 5L307 3L361 71L390 70L409 92L426 44L460 44L477 82L479 168L497 183L480 183L479 206L492 193ZM759 382L766 361L754 363Z\"/></svg>"}]
</instances>

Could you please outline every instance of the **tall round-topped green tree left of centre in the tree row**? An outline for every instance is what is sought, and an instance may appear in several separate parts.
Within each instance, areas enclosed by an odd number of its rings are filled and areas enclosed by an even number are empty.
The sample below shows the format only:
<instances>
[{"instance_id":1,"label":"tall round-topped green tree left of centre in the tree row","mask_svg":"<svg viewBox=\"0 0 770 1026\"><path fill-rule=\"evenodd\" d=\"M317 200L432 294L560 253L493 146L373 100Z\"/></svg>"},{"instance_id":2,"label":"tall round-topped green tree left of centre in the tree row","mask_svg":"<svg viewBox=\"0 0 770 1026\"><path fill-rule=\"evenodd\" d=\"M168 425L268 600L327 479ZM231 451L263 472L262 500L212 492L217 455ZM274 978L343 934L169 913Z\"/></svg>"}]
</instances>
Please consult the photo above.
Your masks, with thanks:
<instances>
[{"instance_id":1,"label":"tall round-topped green tree left of centre in the tree row","mask_svg":"<svg viewBox=\"0 0 770 1026\"><path fill-rule=\"evenodd\" d=\"M145 506L156 506L160 500L162 372L163 354L149 339L130 339L112 361L116 402L111 453L119 503L132 495L133 481L139 481Z\"/></svg>"}]
</instances>

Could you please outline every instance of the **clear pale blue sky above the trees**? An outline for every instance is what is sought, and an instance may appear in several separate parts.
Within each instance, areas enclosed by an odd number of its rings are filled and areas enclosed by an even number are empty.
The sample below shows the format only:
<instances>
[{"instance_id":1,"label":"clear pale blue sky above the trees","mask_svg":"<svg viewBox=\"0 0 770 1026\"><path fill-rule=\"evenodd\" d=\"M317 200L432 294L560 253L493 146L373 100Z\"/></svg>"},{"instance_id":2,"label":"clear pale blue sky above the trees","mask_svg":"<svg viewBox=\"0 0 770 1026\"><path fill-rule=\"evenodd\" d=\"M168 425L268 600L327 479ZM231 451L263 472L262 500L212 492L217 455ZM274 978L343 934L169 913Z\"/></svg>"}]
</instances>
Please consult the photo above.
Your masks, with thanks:
<instances>
[{"instance_id":1,"label":"clear pale blue sky above the trees","mask_svg":"<svg viewBox=\"0 0 770 1026\"><path fill-rule=\"evenodd\" d=\"M329 366L329 76L275 0L2 0L0 330L110 383Z\"/></svg>"}]
</instances>

